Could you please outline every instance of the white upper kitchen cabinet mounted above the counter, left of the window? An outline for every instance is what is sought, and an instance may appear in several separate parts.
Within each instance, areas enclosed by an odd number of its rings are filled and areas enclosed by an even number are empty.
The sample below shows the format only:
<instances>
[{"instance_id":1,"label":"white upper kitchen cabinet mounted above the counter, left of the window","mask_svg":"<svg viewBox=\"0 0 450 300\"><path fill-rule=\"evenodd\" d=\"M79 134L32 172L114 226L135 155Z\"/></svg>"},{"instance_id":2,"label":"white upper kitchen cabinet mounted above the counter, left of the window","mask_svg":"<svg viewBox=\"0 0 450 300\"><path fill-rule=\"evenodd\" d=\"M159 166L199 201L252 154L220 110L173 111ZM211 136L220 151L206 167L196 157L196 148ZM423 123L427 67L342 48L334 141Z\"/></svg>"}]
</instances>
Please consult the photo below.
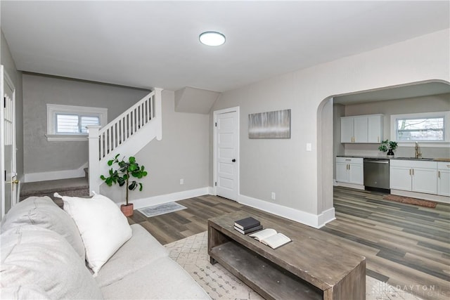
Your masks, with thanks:
<instances>
[{"instance_id":1,"label":"white upper kitchen cabinet mounted above the counter, left of the window","mask_svg":"<svg viewBox=\"0 0 450 300\"><path fill-rule=\"evenodd\" d=\"M383 115L340 118L341 143L380 143L383 140Z\"/></svg>"}]
</instances>

